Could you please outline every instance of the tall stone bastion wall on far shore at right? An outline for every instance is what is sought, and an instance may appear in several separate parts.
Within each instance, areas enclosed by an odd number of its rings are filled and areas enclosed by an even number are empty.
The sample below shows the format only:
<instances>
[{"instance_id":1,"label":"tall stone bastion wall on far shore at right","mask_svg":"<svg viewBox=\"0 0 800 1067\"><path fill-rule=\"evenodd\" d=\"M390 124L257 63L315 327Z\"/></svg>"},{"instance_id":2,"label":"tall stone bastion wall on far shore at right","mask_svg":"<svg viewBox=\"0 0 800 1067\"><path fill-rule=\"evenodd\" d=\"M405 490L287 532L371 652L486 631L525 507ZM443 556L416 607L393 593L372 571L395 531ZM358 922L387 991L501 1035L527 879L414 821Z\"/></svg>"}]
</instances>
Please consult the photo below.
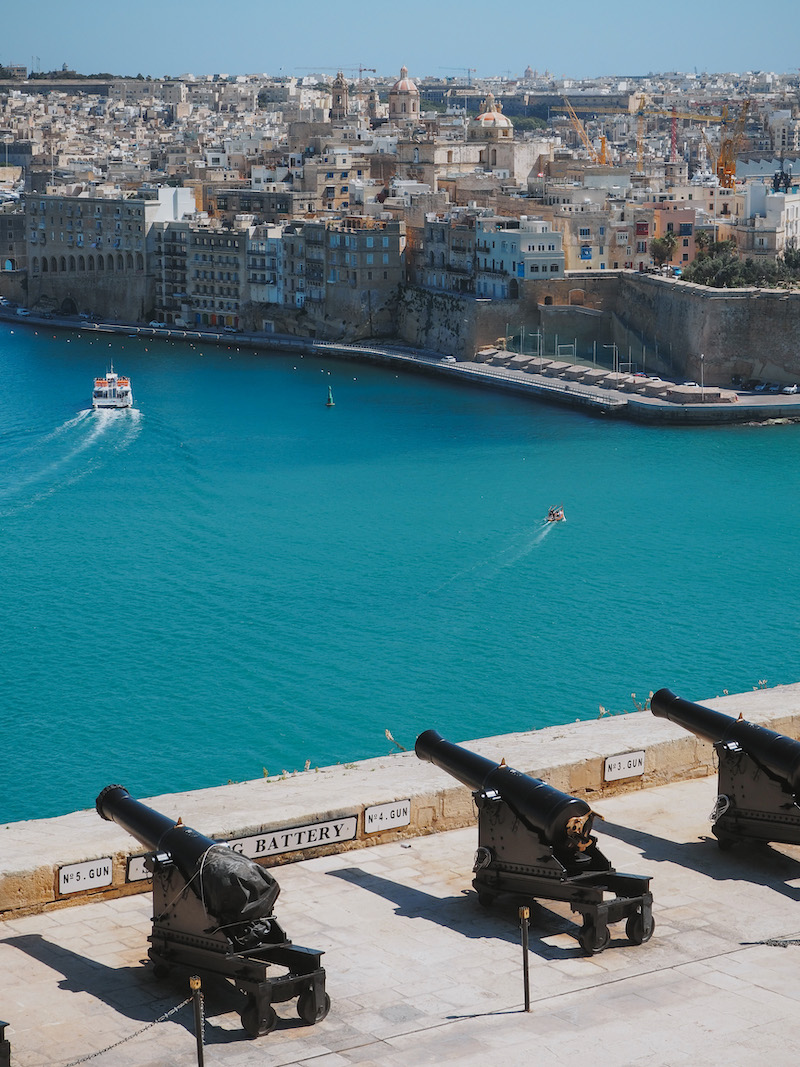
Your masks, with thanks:
<instances>
[{"instance_id":1,"label":"tall stone bastion wall on far shore at right","mask_svg":"<svg viewBox=\"0 0 800 1067\"><path fill-rule=\"evenodd\" d=\"M579 359L610 365L603 345L615 344L620 362L708 385L734 375L800 382L800 291L714 289L634 271L572 271L564 277L521 283L515 300L473 297L406 286L398 335L411 345L468 359L521 328L543 333L547 354L576 343ZM703 354L701 369L700 355Z\"/></svg>"}]
</instances>

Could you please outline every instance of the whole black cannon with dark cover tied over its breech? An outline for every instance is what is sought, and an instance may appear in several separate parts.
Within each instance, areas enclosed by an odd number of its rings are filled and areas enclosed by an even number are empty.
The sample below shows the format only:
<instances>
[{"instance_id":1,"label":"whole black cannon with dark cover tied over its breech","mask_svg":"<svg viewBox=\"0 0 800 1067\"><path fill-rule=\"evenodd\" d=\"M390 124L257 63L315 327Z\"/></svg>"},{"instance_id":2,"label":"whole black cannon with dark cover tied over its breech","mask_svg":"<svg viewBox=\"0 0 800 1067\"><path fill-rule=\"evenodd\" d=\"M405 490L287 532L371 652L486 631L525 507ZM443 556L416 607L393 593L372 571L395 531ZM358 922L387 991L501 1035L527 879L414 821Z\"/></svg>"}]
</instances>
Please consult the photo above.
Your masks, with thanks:
<instances>
[{"instance_id":1,"label":"whole black cannon with dark cover tied over its breech","mask_svg":"<svg viewBox=\"0 0 800 1067\"><path fill-rule=\"evenodd\" d=\"M233 981L245 998L240 1015L251 1037L274 1030L272 1005L294 997L303 1022L325 1018L331 1000L322 953L286 937L273 914L281 890L269 871L225 842L134 800L122 785L107 785L96 808L150 849L148 955L157 976L189 968Z\"/></svg>"}]
</instances>

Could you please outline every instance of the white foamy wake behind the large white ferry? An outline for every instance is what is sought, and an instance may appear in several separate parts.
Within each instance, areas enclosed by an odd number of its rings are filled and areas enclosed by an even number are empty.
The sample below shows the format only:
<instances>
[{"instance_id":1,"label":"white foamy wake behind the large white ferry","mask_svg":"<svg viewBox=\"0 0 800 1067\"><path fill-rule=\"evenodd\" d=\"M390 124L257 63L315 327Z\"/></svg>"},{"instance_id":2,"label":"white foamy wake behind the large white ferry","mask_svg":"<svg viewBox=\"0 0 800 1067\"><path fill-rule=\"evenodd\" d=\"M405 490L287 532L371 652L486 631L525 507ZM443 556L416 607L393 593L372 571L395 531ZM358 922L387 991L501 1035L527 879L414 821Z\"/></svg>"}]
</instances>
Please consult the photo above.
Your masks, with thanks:
<instances>
[{"instance_id":1,"label":"white foamy wake behind the large white ferry","mask_svg":"<svg viewBox=\"0 0 800 1067\"><path fill-rule=\"evenodd\" d=\"M81 411L4 457L0 474L0 516L31 508L57 490L73 485L141 432L141 412ZM100 447L102 446L102 447Z\"/></svg>"}]
</instances>

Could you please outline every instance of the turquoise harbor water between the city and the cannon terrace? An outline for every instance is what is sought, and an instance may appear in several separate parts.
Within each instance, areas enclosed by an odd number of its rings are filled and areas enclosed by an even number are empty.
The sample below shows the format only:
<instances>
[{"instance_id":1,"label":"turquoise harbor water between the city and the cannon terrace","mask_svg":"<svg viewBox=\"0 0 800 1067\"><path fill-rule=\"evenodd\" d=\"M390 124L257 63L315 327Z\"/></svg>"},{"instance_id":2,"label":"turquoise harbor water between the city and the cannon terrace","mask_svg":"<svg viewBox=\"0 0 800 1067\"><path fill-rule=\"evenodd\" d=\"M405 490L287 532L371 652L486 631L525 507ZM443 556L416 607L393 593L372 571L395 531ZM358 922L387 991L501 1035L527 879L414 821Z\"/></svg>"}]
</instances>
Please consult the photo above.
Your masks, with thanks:
<instances>
[{"instance_id":1,"label":"turquoise harbor water between the city and the cannon terrace","mask_svg":"<svg viewBox=\"0 0 800 1067\"><path fill-rule=\"evenodd\" d=\"M798 681L799 471L796 426L0 324L0 821Z\"/></svg>"}]
</instances>

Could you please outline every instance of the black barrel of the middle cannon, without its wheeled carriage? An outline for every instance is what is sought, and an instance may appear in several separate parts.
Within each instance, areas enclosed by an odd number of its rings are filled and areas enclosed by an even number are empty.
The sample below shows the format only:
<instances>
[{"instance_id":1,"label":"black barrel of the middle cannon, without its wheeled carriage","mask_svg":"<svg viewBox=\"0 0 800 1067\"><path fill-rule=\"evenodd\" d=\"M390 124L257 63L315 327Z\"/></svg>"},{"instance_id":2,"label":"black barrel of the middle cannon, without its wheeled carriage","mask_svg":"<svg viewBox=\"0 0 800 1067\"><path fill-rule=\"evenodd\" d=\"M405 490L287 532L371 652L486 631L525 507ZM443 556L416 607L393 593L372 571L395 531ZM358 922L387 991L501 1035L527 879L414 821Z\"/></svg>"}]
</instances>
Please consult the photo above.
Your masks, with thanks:
<instances>
[{"instance_id":1,"label":"black barrel of the middle cannon, without its wheeled carriage","mask_svg":"<svg viewBox=\"0 0 800 1067\"><path fill-rule=\"evenodd\" d=\"M469 789L497 793L548 844L586 848L591 843L594 812L585 800L445 740L435 730L421 733L414 751Z\"/></svg>"}]
</instances>

